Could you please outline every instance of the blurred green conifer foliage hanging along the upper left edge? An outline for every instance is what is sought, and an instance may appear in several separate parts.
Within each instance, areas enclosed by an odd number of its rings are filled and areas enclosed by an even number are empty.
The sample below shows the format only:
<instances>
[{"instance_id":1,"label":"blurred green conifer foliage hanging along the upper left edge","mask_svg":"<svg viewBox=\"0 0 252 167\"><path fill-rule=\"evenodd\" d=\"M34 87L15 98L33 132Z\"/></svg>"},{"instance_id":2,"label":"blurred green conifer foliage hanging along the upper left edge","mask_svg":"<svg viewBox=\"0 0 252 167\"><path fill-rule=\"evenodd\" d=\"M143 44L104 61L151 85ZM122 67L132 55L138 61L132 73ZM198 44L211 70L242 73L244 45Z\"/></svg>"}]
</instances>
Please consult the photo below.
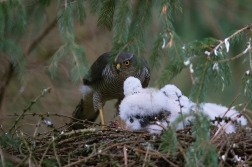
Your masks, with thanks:
<instances>
[{"instance_id":1,"label":"blurred green conifer foliage hanging along the upper left edge","mask_svg":"<svg viewBox=\"0 0 252 167\"><path fill-rule=\"evenodd\" d=\"M25 59L16 39L24 32L27 16L20 1L10 0L0 3L0 57L9 56L13 68L20 78L25 70Z\"/></svg>"}]
</instances>

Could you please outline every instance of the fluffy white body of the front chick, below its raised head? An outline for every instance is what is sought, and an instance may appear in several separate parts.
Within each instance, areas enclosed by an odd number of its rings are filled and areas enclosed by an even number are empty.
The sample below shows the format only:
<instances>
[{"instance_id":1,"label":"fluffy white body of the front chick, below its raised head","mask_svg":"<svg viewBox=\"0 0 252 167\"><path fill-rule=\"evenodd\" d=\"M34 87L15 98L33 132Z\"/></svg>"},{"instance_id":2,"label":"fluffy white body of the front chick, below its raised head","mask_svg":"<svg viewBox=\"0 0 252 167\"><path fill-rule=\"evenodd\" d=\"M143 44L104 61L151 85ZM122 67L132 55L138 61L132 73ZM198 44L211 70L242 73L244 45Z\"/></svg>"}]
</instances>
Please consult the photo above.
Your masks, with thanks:
<instances>
[{"instance_id":1,"label":"fluffy white body of the front chick, below its raised head","mask_svg":"<svg viewBox=\"0 0 252 167\"><path fill-rule=\"evenodd\" d=\"M163 94L157 91L127 96L122 100L119 110L121 119L131 130L145 129L151 122L162 121L170 114Z\"/></svg>"}]
</instances>

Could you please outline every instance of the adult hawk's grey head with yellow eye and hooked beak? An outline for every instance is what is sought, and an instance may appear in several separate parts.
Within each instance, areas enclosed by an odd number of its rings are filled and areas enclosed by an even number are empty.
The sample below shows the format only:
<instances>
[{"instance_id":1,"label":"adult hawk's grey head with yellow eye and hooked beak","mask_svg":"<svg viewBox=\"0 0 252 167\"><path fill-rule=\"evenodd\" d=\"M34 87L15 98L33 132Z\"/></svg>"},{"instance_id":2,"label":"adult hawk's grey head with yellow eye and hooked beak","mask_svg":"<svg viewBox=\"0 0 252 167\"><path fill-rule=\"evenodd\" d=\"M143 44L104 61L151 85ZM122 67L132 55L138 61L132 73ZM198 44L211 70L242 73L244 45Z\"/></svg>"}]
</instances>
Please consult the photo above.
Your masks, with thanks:
<instances>
[{"instance_id":1,"label":"adult hawk's grey head with yellow eye and hooked beak","mask_svg":"<svg viewBox=\"0 0 252 167\"><path fill-rule=\"evenodd\" d=\"M131 53L120 53L115 57L114 65L117 73L120 73L122 70L132 67L134 61L134 55Z\"/></svg>"}]
</instances>

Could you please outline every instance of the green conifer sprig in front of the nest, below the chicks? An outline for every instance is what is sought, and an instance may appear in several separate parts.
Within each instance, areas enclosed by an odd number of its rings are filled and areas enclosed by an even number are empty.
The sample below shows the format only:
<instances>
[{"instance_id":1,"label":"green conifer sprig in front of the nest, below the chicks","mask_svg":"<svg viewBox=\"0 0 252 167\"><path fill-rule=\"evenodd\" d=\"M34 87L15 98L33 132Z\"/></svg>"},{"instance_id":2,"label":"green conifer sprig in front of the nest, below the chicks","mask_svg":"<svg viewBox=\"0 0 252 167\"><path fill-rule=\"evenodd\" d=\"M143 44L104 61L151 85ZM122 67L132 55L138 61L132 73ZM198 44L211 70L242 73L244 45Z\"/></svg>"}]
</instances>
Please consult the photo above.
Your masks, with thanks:
<instances>
[{"instance_id":1,"label":"green conifer sprig in front of the nest, below the chicks","mask_svg":"<svg viewBox=\"0 0 252 167\"><path fill-rule=\"evenodd\" d=\"M193 143L186 149L184 149L179 142L179 138L176 135L175 127L178 124L184 125L184 120L190 117L191 130L193 136ZM190 114L181 114L173 124L171 128L164 132L162 135L161 149L163 152L175 153L179 150L184 152L182 155L185 158L185 166L218 166L218 154L216 152L216 146L211 144L210 137L210 122L209 118L203 114L203 112L192 112ZM181 130L181 133L188 134ZM190 138L188 136L188 141ZM175 157L174 157L175 158Z\"/></svg>"}]
</instances>

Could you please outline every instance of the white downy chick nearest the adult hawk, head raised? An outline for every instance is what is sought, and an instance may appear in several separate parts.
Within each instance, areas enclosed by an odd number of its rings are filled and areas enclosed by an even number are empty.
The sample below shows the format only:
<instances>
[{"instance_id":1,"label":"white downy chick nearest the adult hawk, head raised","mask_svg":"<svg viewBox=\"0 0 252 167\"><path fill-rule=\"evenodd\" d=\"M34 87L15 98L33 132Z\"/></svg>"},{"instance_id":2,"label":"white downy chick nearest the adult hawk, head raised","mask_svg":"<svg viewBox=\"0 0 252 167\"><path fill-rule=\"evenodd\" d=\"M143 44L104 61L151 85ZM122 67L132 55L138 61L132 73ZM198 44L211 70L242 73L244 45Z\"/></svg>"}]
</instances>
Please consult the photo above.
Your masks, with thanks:
<instances>
[{"instance_id":1,"label":"white downy chick nearest the adult hawk, head raised","mask_svg":"<svg viewBox=\"0 0 252 167\"><path fill-rule=\"evenodd\" d=\"M125 98L119 111L130 130L146 129L151 122L169 115L164 94L153 88L143 89L139 79L129 77L124 82Z\"/></svg>"}]
</instances>

